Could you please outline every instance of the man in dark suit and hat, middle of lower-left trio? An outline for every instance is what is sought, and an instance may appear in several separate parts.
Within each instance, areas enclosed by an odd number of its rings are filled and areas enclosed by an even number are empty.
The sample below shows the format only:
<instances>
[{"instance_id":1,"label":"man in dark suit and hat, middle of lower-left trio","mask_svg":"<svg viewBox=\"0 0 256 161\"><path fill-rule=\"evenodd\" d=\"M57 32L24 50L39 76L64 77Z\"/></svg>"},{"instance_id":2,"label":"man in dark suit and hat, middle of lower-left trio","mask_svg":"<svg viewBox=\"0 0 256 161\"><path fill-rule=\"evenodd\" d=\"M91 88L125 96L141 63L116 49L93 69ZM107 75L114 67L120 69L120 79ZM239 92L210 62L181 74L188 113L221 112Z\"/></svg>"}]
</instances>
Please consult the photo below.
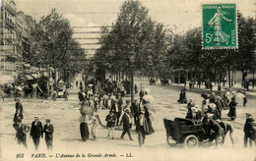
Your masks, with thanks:
<instances>
[{"instance_id":1,"label":"man in dark suit and hat, middle of lower-left trio","mask_svg":"<svg viewBox=\"0 0 256 161\"><path fill-rule=\"evenodd\" d=\"M32 122L31 137L32 137L33 144L35 146L35 150L38 149L40 136L41 137L43 136L42 125L41 125L41 122L39 121L38 116L34 116L34 121Z\"/></svg>"}]
</instances>

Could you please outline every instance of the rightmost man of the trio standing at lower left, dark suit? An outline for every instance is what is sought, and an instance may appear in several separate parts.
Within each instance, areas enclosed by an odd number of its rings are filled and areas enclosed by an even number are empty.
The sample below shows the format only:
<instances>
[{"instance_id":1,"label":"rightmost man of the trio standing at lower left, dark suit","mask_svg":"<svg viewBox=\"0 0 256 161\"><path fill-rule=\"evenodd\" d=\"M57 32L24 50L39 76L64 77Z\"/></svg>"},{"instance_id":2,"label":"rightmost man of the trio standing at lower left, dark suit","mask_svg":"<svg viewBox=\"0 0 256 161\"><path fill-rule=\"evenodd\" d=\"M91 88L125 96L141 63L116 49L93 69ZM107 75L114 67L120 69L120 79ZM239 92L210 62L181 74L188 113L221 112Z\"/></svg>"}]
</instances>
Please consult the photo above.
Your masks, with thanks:
<instances>
[{"instance_id":1,"label":"rightmost man of the trio standing at lower left, dark suit","mask_svg":"<svg viewBox=\"0 0 256 161\"><path fill-rule=\"evenodd\" d=\"M51 150L54 128L53 128L53 125L50 124L50 119L46 119L45 121L46 121L46 125L43 128L43 132L45 133L44 138L45 138L47 149Z\"/></svg>"}]
</instances>

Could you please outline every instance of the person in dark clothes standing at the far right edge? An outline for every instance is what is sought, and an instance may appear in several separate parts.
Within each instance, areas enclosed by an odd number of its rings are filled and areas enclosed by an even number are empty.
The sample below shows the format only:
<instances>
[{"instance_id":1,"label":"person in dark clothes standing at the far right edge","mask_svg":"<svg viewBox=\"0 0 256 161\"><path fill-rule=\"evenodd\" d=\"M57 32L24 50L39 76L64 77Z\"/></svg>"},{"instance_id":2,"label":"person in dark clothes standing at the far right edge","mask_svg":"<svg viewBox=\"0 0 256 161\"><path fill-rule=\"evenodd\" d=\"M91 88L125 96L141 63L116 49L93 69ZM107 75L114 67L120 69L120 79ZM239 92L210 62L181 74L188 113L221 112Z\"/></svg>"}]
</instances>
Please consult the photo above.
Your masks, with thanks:
<instances>
[{"instance_id":1,"label":"person in dark clothes standing at the far right edge","mask_svg":"<svg viewBox=\"0 0 256 161\"><path fill-rule=\"evenodd\" d=\"M244 132L244 147L247 147L247 142L249 139L250 147L252 147L252 142L254 141L254 145L256 146L256 138L255 138L255 129L253 127L254 119L250 113L246 113L246 121L243 127Z\"/></svg>"}]
</instances>

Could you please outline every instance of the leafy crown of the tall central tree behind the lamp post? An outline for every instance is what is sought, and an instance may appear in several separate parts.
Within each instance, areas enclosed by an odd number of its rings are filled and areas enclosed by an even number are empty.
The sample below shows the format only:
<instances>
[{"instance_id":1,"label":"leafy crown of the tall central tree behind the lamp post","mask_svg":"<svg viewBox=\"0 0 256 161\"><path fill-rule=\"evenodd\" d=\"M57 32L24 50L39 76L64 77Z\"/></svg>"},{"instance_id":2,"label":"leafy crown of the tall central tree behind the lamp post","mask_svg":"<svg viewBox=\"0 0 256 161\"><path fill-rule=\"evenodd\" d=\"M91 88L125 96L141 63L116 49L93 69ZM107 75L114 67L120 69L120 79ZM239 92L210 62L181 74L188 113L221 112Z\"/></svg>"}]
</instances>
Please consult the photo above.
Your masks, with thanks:
<instances>
[{"instance_id":1,"label":"leafy crown of the tall central tree behind the lamp post","mask_svg":"<svg viewBox=\"0 0 256 161\"><path fill-rule=\"evenodd\" d=\"M159 70L162 55L167 53L165 28L148 16L149 10L139 1L125 1L112 27L103 27L99 39L101 47L95 58L113 73L129 71L131 55L138 70ZM98 61L99 63L100 61ZM102 65L97 65L102 66Z\"/></svg>"}]
</instances>

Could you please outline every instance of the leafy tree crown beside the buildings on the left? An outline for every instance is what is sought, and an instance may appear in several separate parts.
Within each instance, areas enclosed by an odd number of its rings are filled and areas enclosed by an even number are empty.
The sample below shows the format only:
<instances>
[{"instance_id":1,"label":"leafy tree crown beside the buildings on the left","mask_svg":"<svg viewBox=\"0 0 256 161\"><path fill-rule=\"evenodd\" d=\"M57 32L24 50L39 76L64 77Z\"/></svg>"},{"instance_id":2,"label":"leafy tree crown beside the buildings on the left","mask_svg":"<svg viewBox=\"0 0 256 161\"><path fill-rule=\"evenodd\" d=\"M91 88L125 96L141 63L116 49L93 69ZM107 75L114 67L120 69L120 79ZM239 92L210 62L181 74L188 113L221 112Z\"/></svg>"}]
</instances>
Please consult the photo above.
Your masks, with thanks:
<instances>
[{"instance_id":1,"label":"leafy tree crown beside the buildings on the left","mask_svg":"<svg viewBox=\"0 0 256 161\"><path fill-rule=\"evenodd\" d=\"M69 74L80 72L85 51L72 35L69 21L52 9L32 30L32 65L43 68L50 66L54 72L58 69L65 80Z\"/></svg>"}]
</instances>

